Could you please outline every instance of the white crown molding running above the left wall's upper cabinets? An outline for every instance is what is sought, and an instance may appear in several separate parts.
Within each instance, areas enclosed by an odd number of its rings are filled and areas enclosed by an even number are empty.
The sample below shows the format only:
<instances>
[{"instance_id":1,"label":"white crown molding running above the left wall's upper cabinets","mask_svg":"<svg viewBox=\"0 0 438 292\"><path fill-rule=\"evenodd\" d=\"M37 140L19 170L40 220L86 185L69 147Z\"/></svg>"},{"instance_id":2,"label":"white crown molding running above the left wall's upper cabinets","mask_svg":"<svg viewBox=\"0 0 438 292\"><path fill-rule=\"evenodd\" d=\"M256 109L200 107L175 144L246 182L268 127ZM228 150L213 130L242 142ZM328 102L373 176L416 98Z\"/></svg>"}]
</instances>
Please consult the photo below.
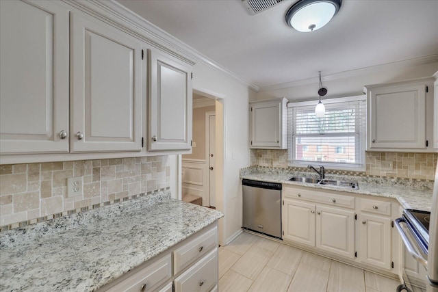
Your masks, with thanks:
<instances>
[{"instance_id":1,"label":"white crown molding running above the left wall's upper cabinets","mask_svg":"<svg viewBox=\"0 0 438 292\"><path fill-rule=\"evenodd\" d=\"M228 70L219 64L216 64L216 62L196 51L196 49L190 47L181 40L178 40L156 25L153 25L153 23L142 18L142 16L136 14L135 12L125 8L125 6L121 5L115 0L75 0L66 1L66 3L74 3L75 6L80 7L82 10L91 10L100 16L104 16L110 21L115 20L118 25L123 25L123 27L127 29L135 29L136 34L146 38L149 43L158 49L171 53L172 55L177 53L179 55L177 57L183 57L189 61L194 60L195 62L202 63L205 66L216 70L216 72L227 75L228 77L231 77L231 79L248 86L248 88L255 90L256 92L259 90L259 86L257 84L245 79L244 77L236 75L234 72L231 72L231 70Z\"/></svg>"}]
</instances>

